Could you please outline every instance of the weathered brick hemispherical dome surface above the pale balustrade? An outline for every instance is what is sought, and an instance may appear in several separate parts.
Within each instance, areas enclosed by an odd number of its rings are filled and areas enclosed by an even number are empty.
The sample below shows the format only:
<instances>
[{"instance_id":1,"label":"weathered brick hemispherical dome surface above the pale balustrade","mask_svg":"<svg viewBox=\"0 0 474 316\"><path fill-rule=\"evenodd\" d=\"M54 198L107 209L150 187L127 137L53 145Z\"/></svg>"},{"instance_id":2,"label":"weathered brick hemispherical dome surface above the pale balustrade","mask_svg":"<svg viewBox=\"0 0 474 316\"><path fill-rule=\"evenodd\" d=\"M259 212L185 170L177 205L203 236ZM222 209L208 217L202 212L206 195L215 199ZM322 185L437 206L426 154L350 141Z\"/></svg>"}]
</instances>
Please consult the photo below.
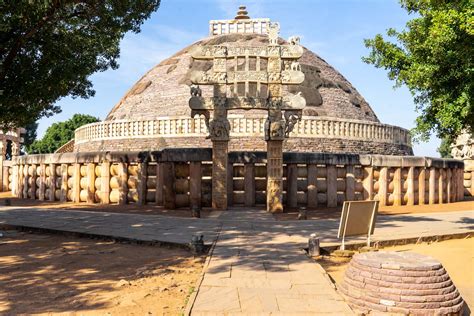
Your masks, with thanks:
<instances>
[{"instance_id":1,"label":"weathered brick hemispherical dome surface above the pale balustrade","mask_svg":"<svg viewBox=\"0 0 474 316\"><path fill-rule=\"evenodd\" d=\"M196 45L261 46L268 37L260 34L228 34L200 40L147 72L112 109L106 120L156 119L189 116L189 75L192 70L208 70L212 61L193 61L189 52ZM305 81L291 87L306 99L305 116L324 116L379 122L374 111L357 90L337 70L308 49L299 60ZM229 114L239 113L232 111ZM246 116L265 116L250 111Z\"/></svg>"}]
</instances>

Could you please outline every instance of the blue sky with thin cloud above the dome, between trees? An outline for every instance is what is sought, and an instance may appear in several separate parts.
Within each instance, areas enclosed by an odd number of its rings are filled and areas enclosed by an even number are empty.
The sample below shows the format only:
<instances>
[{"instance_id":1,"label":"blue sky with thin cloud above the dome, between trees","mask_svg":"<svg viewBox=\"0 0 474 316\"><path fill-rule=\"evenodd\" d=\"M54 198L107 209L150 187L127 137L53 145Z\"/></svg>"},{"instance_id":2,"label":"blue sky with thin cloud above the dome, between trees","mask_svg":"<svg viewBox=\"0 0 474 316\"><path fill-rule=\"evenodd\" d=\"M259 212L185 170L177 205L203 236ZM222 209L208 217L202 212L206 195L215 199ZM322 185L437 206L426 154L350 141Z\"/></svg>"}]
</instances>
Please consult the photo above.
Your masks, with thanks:
<instances>
[{"instance_id":1,"label":"blue sky with thin cloud above the dome, between trees","mask_svg":"<svg viewBox=\"0 0 474 316\"><path fill-rule=\"evenodd\" d=\"M139 34L126 34L121 42L120 68L94 74L94 98L64 98L62 113L44 118L38 136L53 122L87 113L105 118L126 91L151 67L208 33L208 21L235 16L246 5L250 17L280 22L281 36L300 35L301 44L341 72L365 97L382 123L412 128L415 105L406 88L393 88L384 70L364 64L363 39L401 29L412 18L396 0L162 0L161 6ZM414 144L416 155L439 156L439 139Z\"/></svg>"}]
</instances>

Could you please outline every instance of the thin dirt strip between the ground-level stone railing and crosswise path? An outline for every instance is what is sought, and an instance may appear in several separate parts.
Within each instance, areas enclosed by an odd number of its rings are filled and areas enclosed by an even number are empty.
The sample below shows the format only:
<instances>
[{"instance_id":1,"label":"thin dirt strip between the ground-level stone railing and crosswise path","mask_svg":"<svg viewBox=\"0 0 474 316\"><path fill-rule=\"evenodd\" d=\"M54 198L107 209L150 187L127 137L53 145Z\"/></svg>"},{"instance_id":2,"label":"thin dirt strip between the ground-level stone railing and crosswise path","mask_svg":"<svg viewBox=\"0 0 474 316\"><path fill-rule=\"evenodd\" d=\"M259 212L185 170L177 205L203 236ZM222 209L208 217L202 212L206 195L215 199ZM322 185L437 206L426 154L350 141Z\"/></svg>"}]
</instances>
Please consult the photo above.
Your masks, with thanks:
<instances>
[{"instance_id":1,"label":"thin dirt strip between the ground-level stone railing and crosswise path","mask_svg":"<svg viewBox=\"0 0 474 316\"><path fill-rule=\"evenodd\" d=\"M92 211L92 212L113 212L113 213L129 213L129 214L145 214L145 215L164 215L164 216L177 216L177 217L191 217L191 211L187 208L177 210L167 210L161 206L154 204L147 205L102 205L102 204L87 204L87 203L60 203L60 202L49 202L49 201L38 201L30 199L17 199L11 196L10 192L0 192L0 205L4 205L5 199L10 199L12 206L24 206L24 207L35 207L35 208L47 208L47 209L68 209L76 211ZM438 212L456 212L456 211L467 211L474 210L474 200L449 203L449 204L435 204L435 205L414 205L414 206L383 206L379 209L379 214L382 215L394 215L394 214L414 214L414 213L438 213ZM201 211L201 217L209 217L212 210L210 208L204 208ZM297 210L289 210L282 214L274 215L277 220L296 220L298 218ZM341 207L327 208L321 207L317 210L307 211L308 219L328 219L328 218L340 218Z\"/></svg>"}]
</instances>

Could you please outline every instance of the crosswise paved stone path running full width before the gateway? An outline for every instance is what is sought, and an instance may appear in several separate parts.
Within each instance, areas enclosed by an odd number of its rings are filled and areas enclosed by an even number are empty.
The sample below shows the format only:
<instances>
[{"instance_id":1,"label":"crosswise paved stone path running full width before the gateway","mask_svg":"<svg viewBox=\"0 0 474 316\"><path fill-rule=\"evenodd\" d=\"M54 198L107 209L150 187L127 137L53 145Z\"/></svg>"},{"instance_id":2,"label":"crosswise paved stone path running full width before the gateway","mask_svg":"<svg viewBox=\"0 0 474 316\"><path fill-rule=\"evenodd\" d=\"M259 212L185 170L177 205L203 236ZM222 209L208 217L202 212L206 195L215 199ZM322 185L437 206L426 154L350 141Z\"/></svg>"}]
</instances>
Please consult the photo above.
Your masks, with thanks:
<instances>
[{"instance_id":1,"label":"crosswise paved stone path running full width before the gateway","mask_svg":"<svg viewBox=\"0 0 474 316\"><path fill-rule=\"evenodd\" d=\"M226 211L209 219L193 219L0 206L0 224L178 244L187 244L196 233L204 234L205 242L211 244L222 225L249 222L260 231L284 234L297 248L304 247L312 233L317 233L326 246L339 244L336 238L339 219L277 222L263 210ZM372 240L469 232L474 232L474 203L469 211L378 216ZM363 240L348 239L348 244Z\"/></svg>"}]
</instances>

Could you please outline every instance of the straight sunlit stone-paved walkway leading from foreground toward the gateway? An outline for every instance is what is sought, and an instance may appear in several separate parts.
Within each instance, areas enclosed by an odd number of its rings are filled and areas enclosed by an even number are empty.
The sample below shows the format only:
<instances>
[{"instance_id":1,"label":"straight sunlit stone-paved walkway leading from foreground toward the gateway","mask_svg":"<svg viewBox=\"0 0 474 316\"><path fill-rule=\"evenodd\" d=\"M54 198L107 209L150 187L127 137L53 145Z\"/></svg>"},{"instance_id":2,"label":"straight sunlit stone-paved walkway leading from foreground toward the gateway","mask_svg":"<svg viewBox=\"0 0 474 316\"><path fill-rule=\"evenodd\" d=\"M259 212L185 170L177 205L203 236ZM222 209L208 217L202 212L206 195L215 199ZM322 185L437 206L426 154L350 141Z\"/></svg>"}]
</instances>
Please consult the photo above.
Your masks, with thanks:
<instances>
[{"instance_id":1,"label":"straight sunlit stone-paved walkway leading from foreground toward the gateway","mask_svg":"<svg viewBox=\"0 0 474 316\"><path fill-rule=\"evenodd\" d=\"M280 231L224 223L192 315L352 315L324 269Z\"/></svg>"}]
</instances>

